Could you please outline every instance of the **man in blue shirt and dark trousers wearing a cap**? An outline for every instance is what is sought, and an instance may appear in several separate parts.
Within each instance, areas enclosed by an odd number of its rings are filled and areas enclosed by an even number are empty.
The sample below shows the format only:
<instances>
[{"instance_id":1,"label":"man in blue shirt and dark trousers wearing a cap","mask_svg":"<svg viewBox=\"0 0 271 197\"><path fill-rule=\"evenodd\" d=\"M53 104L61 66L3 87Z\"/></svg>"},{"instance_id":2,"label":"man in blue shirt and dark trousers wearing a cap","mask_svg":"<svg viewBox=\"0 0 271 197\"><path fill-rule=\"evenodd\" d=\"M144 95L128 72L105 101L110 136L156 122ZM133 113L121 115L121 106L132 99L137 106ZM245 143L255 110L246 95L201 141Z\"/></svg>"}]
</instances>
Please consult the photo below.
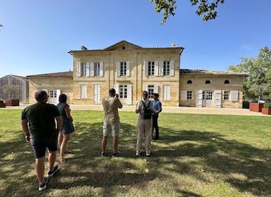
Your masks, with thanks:
<instances>
[{"instance_id":1,"label":"man in blue shirt and dark trousers wearing a cap","mask_svg":"<svg viewBox=\"0 0 271 197\"><path fill-rule=\"evenodd\" d=\"M153 139L159 139L158 114L162 111L162 103L159 101L159 94L153 94L153 131L156 129Z\"/></svg>"}]
</instances>

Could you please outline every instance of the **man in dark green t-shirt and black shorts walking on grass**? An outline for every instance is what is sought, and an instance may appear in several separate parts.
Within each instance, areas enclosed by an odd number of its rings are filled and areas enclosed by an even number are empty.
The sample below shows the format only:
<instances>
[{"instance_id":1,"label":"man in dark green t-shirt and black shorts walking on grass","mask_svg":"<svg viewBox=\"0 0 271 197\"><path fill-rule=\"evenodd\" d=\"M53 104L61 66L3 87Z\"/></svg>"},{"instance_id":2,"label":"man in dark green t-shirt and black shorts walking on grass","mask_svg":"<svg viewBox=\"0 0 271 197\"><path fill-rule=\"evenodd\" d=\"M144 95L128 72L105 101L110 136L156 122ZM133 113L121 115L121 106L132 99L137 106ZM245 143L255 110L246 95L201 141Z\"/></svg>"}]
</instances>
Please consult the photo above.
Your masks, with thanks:
<instances>
[{"instance_id":1,"label":"man in dark green t-shirt and black shorts walking on grass","mask_svg":"<svg viewBox=\"0 0 271 197\"><path fill-rule=\"evenodd\" d=\"M44 162L46 148L48 148L49 172L52 177L58 170L56 161L57 136L61 129L62 119L58 108L47 103L46 91L37 91L34 94L37 103L23 109L21 127L25 133L25 141L30 142L35 157L35 172L39 179L39 191L46 189L47 178L44 178ZM56 122L57 124L56 124Z\"/></svg>"}]
</instances>

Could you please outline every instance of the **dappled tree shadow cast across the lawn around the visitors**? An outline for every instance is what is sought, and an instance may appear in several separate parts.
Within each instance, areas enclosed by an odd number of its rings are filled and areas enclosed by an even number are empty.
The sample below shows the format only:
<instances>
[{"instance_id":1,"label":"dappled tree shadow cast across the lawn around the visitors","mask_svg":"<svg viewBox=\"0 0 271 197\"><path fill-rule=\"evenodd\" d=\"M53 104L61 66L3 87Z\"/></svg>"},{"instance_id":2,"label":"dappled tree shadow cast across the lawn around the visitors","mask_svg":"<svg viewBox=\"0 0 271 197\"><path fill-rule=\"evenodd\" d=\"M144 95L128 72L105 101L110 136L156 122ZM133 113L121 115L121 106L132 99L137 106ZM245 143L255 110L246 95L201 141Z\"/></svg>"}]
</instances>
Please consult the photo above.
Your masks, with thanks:
<instances>
[{"instance_id":1,"label":"dappled tree shadow cast across the lawn around the visitors","mask_svg":"<svg viewBox=\"0 0 271 197\"><path fill-rule=\"evenodd\" d=\"M134 192L157 180L170 180L168 186L172 186L179 196L204 196L189 186L182 187L180 178L175 179L173 173L168 172L177 173L178 177L186 174L191 180L205 184L219 180L255 196L269 196L271 193L270 149L262 150L227 140L215 132L160 127L160 140L153 141L151 157L137 158L134 155L136 127L121 123L119 149L122 155L111 158L109 154L107 158L101 158L102 126L103 122L75 123L76 132L68 144L73 154L67 155L67 164L60 166L60 172L50 179L49 189L42 196L52 196L52 189L60 190L57 196L69 193L73 196L70 189L76 193L76 189L82 187L86 189L80 192L90 196L97 193L101 196L124 195L131 188ZM0 146L1 195L21 196L21 193L27 193L28 196L37 196L39 191L30 144L18 136ZM111 137L107 150L108 153L112 150Z\"/></svg>"}]
</instances>

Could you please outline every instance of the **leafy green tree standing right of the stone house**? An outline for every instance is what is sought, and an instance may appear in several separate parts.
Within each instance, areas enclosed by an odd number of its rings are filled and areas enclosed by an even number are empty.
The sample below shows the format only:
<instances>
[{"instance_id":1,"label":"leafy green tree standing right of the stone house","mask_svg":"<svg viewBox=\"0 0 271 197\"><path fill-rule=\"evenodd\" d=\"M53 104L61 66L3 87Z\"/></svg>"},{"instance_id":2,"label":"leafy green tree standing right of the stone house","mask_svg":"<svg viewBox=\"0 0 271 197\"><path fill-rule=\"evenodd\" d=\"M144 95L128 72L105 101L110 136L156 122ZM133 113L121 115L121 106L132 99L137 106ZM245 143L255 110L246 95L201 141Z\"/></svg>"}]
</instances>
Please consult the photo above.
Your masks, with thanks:
<instances>
[{"instance_id":1,"label":"leafy green tree standing right of the stone house","mask_svg":"<svg viewBox=\"0 0 271 197\"><path fill-rule=\"evenodd\" d=\"M243 95L244 98L258 97L256 87L262 91L260 96L270 97L269 89L263 88L265 84L271 84L271 50L265 46L260 49L257 57L241 58L239 65L230 65L227 70L232 72L246 72L248 77L244 79Z\"/></svg>"}]
</instances>

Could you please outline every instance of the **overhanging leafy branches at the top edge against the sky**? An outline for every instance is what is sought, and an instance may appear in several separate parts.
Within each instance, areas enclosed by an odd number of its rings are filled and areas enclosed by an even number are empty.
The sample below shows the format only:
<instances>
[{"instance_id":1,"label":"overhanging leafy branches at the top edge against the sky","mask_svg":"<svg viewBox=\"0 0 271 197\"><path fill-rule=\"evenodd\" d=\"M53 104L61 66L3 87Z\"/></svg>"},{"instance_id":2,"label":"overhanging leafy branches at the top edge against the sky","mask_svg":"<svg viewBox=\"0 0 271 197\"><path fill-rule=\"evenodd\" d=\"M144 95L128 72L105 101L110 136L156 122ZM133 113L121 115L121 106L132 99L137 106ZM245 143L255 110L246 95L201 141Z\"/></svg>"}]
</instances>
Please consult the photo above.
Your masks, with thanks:
<instances>
[{"instance_id":1,"label":"overhanging leafy branches at the top edge against the sky","mask_svg":"<svg viewBox=\"0 0 271 197\"><path fill-rule=\"evenodd\" d=\"M203 20L213 20L217 16L217 11L215 8L218 7L218 4L224 4L225 0L213 0L212 3L209 3L208 0L189 0L192 6L197 6L196 15L203 15ZM165 23L168 20L170 15L175 15L175 10L177 6L175 6L175 0L151 0L151 3L156 4L156 12L163 13L163 20L161 24Z\"/></svg>"}]
</instances>

